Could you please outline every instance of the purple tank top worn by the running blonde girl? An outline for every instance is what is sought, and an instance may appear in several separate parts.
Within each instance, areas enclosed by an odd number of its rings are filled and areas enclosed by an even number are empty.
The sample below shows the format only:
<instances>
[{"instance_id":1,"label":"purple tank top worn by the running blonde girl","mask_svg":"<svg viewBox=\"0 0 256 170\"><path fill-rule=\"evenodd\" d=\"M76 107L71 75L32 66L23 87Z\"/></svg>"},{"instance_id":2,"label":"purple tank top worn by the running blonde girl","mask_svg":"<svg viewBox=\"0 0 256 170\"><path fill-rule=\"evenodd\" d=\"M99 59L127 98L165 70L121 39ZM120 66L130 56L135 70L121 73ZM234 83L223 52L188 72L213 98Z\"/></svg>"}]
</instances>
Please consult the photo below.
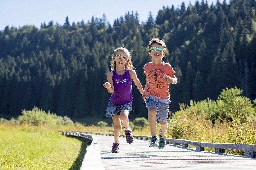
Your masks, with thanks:
<instances>
[{"instance_id":1,"label":"purple tank top worn by the running blonde girl","mask_svg":"<svg viewBox=\"0 0 256 170\"><path fill-rule=\"evenodd\" d=\"M123 75L118 75L116 69L113 70L114 93L111 94L109 101L117 106L132 102L132 78L129 69L125 69Z\"/></svg>"}]
</instances>

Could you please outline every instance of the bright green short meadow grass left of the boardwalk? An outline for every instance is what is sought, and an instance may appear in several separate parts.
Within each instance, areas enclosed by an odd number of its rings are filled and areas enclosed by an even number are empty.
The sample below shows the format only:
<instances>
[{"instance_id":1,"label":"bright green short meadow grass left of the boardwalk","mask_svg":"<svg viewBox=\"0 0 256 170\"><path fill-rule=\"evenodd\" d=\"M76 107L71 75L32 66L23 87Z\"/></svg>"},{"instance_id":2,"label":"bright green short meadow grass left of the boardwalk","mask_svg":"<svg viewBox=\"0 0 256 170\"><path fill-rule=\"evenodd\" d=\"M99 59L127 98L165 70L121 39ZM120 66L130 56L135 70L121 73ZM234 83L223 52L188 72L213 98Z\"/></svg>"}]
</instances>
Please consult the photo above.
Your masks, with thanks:
<instances>
[{"instance_id":1,"label":"bright green short meadow grass left of the boardwalk","mask_svg":"<svg viewBox=\"0 0 256 170\"><path fill-rule=\"evenodd\" d=\"M0 125L0 169L79 169L87 145L44 127Z\"/></svg>"}]
</instances>

